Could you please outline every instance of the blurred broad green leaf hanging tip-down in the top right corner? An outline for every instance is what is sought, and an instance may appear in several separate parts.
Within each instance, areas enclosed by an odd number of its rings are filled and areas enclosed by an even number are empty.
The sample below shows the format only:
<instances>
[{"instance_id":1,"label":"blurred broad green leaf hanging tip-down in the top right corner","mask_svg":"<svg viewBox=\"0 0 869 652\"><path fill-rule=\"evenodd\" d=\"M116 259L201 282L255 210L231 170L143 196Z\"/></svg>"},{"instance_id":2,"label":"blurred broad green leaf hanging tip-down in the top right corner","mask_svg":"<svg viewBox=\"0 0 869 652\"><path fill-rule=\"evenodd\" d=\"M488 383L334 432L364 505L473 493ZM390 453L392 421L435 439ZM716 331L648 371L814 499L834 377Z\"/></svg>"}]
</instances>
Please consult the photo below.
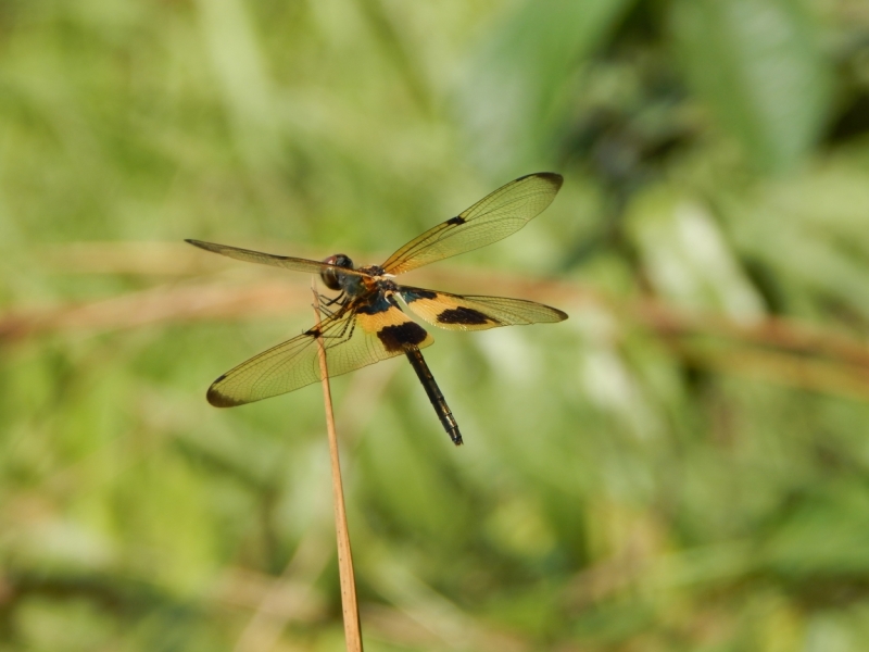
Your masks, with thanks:
<instances>
[{"instance_id":1,"label":"blurred broad green leaf hanging tip-down in the top right corner","mask_svg":"<svg viewBox=\"0 0 869 652\"><path fill-rule=\"evenodd\" d=\"M827 117L831 79L798 0L679 0L688 82L761 170L793 167Z\"/></svg>"}]
</instances>

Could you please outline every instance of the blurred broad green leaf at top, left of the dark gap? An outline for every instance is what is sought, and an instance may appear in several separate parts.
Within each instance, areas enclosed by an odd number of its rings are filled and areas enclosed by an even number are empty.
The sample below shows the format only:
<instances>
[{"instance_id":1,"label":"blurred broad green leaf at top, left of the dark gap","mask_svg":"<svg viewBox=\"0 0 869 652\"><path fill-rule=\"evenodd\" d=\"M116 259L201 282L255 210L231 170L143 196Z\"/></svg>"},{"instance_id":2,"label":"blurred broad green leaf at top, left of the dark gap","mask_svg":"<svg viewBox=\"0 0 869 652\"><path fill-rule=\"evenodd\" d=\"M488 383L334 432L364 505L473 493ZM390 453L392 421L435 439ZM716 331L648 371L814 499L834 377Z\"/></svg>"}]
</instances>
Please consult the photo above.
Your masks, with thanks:
<instances>
[{"instance_id":1,"label":"blurred broad green leaf at top, left of the dark gap","mask_svg":"<svg viewBox=\"0 0 869 652\"><path fill-rule=\"evenodd\" d=\"M633 0L526 0L480 46L458 96L480 162L493 171L540 156L567 109L583 58Z\"/></svg>"}]
</instances>

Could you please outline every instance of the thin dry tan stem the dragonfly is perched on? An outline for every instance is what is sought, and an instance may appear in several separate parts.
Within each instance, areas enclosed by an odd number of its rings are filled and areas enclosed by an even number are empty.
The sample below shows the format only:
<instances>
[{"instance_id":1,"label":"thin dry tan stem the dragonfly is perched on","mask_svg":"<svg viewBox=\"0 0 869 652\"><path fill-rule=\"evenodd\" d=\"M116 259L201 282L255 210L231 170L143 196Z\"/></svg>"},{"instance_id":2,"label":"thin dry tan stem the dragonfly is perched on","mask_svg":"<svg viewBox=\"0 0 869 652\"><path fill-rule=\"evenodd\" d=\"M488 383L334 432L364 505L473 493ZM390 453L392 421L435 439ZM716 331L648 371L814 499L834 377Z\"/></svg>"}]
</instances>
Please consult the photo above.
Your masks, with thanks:
<instances>
[{"instance_id":1,"label":"thin dry tan stem the dragonfly is perched on","mask_svg":"<svg viewBox=\"0 0 869 652\"><path fill-rule=\"evenodd\" d=\"M319 328L319 294L314 292L314 312ZM326 348L323 338L317 338L319 353L319 372L323 378L323 401L326 406L326 430L329 435L329 456L332 467L332 493L335 497L335 529L338 535L338 574L341 578L341 611L344 616L344 638L349 652L362 652L362 624L360 607L356 602L356 580L353 576L353 555L350 551L350 532L347 527L347 509L344 506L344 488L341 482L341 463L338 459L338 435L335 431L335 414L332 412L332 393L329 388L329 369L326 366Z\"/></svg>"}]
</instances>

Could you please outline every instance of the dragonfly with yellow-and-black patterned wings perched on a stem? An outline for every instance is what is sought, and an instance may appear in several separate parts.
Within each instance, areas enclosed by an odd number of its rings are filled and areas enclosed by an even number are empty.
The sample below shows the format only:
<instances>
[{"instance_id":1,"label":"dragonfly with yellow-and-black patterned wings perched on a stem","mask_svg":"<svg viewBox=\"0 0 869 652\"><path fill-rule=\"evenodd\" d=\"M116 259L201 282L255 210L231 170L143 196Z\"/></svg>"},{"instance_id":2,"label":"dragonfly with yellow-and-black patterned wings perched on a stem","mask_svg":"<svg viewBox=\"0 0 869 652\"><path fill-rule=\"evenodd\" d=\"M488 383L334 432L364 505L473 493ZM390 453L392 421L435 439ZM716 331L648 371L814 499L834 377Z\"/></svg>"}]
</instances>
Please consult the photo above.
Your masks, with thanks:
<instances>
[{"instance_id":1,"label":"dragonfly with yellow-and-black patterned wings perched on a stem","mask_svg":"<svg viewBox=\"0 0 869 652\"><path fill-rule=\"evenodd\" d=\"M431 346L434 338L402 306L424 322L446 330L555 323L566 319L567 314L524 299L451 294L399 285L393 279L516 233L552 203L563 180L561 175L551 172L519 177L414 238L380 265L356 267L343 253L313 261L185 240L239 261L318 275L327 288L339 292L328 300L323 297L326 316L317 326L254 355L217 378L206 393L209 403L215 408L232 408L323 380L317 344L320 339L329 376L404 354L450 439L456 446L462 444L458 424L423 358L421 349Z\"/></svg>"}]
</instances>

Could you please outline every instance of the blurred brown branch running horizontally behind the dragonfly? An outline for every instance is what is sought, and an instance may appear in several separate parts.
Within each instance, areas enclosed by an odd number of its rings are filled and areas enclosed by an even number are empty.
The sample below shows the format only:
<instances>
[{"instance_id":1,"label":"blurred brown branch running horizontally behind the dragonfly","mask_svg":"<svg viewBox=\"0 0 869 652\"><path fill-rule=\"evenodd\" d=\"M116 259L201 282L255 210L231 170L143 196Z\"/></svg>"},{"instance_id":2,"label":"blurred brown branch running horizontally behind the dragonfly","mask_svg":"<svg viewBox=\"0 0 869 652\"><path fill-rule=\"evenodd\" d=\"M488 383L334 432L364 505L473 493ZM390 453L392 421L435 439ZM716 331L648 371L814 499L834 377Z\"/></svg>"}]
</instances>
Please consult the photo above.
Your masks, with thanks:
<instances>
[{"instance_id":1,"label":"blurred brown branch running horizontally behind the dragonfly","mask_svg":"<svg viewBox=\"0 0 869 652\"><path fill-rule=\"evenodd\" d=\"M89 303L10 311L0 315L0 343L49 333L101 333L151 324L262 318L302 310L310 301L307 279L302 275L238 265L218 256L204 258L182 244L78 243L53 248L43 258L59 272L168 274L179 278ZM411 283L534 298L562 306L595 305L617 315L626 326L657 334L691 364L869 399L869 347L830 328L782 317L742 324L717 314L689 313L655 299L618 299L578 284L529 280L509 273L461 266L426 271L416 277ZM715 338L716 347L698 344L694 341L697 337Z\"/></svg>"}]
</instances>

